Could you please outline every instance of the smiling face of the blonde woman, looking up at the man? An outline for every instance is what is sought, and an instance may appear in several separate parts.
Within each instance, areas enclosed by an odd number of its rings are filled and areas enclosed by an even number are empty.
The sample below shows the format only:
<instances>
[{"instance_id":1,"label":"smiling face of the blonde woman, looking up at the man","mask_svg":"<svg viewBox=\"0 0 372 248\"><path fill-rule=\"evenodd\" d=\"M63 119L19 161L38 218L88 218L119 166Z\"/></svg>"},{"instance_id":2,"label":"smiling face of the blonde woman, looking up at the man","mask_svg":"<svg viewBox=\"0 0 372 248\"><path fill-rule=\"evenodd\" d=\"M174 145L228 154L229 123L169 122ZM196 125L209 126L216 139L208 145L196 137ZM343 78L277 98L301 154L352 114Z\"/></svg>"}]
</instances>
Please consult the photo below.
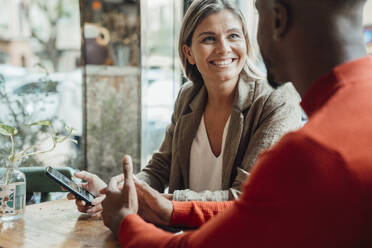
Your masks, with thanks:
<instances>
[{"instance_id":1,"label":"smiling face of the blonde woman, looking up at the man","mask_svg":"<svg viewBox=\"0 0 372 248\"><path fill-rule=\"evenodd\" d=\"M247 56L242 23L228 10L214 13L197 26L191 47L184 45L183 51L204 82L237 81Z\"/></svg>"}]
</instances>

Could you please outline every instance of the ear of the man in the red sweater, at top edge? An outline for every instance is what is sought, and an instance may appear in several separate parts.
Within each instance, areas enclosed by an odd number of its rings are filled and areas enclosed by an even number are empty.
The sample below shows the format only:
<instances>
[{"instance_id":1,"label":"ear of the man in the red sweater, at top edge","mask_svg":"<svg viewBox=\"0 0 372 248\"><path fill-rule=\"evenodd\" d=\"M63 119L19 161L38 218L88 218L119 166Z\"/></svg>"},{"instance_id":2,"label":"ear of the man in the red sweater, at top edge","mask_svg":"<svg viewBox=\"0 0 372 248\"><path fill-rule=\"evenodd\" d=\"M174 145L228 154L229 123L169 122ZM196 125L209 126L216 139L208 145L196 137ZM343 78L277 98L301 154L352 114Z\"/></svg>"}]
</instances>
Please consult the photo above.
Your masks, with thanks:
<instances>
[{"instance_id":1,"label":"ear of the man in the red sweater, at top edge","mask_svg":"<svg viewBox=\"0 0 372 248\"><path fill-rule=\"evenodd\" d=\"M284 3L275 1L273 11L273 38L280 40L289 28L289 8Z\"/></svg>"}]
</instances>

